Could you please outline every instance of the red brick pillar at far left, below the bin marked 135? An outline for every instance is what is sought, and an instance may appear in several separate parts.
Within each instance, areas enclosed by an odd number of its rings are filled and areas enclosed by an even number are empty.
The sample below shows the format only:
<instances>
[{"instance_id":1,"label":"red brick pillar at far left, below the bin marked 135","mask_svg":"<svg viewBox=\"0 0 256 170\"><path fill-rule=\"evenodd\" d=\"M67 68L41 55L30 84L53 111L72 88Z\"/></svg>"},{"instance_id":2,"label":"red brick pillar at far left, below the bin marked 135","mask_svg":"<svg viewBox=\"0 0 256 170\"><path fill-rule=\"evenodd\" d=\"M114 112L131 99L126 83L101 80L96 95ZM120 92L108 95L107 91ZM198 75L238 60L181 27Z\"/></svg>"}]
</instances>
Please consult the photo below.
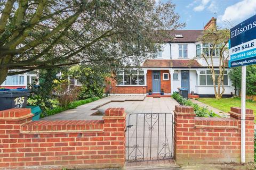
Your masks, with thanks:
<instances>
[{"instance_id":1,"label":"red brick pillar at far left, below the bin marked 135","mask_svg":"<svg viewBox=\"0 0 256 170\"><path fill-rule=\"evenodd\" d=\"M20 128L22 124L30 122L33 115L31 109L12 108L0 111L0 169L10 166L25 166L25 162L18 163L17 158L12 159L11 157L12 155L25 157L25 154L18 150L19 138L23 138Z\"/></svg>"}]
</instances>

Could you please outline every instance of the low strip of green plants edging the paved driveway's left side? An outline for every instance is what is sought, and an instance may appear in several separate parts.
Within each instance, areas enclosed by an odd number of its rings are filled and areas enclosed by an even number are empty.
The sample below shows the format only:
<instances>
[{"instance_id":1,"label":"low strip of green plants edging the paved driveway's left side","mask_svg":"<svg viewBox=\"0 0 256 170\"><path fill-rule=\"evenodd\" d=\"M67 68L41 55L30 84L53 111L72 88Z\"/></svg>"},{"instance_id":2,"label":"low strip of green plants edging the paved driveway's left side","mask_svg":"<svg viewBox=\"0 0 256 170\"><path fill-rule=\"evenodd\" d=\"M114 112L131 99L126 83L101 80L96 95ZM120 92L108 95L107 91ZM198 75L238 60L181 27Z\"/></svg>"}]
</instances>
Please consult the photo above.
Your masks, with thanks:
<instances>
[{"instance_id":1,"label":"low strip of green plants edging the paved driveway's left side","mask_svg":"<svg viewBox=\"0 0 256 170\"><path fill-rule=\"evenodd\" d=\"M53 109L49 109L48 111L46 111L46 114L41 114L41 118L46 117L46 116L50 116L50 115L54 115L63 111L67 111L68 109L73 109L76 108L77 106L81 106L84 105L86 103L91 103L92 101L98 100L100 99L99 97L92 97L89 99L85 99L85 100L77 100L77 101L73 101L71 103L69 103L67 106L61 107L61 106L57 106Z\"/></svg>"}]
</instances>

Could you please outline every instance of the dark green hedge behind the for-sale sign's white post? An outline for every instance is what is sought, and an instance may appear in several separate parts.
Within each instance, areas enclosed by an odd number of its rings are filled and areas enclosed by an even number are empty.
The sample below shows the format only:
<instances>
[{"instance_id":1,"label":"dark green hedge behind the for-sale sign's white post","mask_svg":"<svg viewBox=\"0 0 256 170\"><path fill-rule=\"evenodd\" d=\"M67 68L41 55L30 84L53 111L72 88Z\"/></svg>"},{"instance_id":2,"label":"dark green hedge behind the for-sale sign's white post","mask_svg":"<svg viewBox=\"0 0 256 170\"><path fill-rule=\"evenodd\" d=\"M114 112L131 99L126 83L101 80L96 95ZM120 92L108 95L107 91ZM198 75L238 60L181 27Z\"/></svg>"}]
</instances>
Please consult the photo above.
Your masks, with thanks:
<instances>
[{"instance_id":1,"label":"dark green hedge behind the for-sale sign's white post","mask_svg":"<svg viewBox=\"0 0 256 170\"><path fill-rule=\"evenodd\" d=\"M241 67L233 67L229 71L229 78L238 90L241 90ZM256 65L246 67L246 94L256 95Z\"/></svg>"}]
</instances>

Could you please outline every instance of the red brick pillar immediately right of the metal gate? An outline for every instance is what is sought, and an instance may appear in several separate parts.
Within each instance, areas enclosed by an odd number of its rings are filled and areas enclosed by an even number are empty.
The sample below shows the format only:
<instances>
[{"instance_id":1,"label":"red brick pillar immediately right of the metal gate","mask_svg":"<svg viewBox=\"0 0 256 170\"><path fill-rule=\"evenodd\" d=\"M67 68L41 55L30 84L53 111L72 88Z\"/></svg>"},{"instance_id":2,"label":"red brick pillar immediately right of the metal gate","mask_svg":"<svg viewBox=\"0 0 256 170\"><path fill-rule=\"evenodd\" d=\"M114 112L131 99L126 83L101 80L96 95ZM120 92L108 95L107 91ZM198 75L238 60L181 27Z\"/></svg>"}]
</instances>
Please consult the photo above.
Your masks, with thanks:
<instances>
[{"instance_id":1,"label":"red brick pillar immediately right of the metal gate","mask_svg":"<svg viewBox=\"0 0 256 170\"><path fill-rule=\"evenodd\" d=\"M191 106L175 106L174 112L174 159L176 162L188 158L189 135L194 136L195 116L194 108ZM192 130L191 130L192 129ZM191 132L192 131L192 132ZM193 133L193 134L190 134Z\"/></svg>"}]
</instances>

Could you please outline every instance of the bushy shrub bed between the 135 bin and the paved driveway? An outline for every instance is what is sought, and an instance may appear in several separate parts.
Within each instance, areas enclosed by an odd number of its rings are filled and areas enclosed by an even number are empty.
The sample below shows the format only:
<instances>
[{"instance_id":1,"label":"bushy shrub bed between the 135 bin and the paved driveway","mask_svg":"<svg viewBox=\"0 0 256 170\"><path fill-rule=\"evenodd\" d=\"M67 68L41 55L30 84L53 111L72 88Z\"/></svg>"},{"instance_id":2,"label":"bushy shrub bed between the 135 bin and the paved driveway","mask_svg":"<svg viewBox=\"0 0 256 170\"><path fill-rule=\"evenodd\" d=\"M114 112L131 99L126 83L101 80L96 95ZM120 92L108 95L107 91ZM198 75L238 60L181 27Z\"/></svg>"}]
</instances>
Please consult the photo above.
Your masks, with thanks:
<instances>
[{"instance_id":1,"label":"bushy shrub bed between the 135 bin and the paved driveway","mask_svg":"<svg viewBox=\"0 0 256 170\"><path fill-rule=\"evenodd\" d=\"M77 106L91 103L105 96L105 74L95 73L89 67L79 65L61 70L40 70L38 80L30 86L29 106L39 106L41 118L54 115ZM72 83L70 77L79 81Z\"/></svg>"}]
</instances>

